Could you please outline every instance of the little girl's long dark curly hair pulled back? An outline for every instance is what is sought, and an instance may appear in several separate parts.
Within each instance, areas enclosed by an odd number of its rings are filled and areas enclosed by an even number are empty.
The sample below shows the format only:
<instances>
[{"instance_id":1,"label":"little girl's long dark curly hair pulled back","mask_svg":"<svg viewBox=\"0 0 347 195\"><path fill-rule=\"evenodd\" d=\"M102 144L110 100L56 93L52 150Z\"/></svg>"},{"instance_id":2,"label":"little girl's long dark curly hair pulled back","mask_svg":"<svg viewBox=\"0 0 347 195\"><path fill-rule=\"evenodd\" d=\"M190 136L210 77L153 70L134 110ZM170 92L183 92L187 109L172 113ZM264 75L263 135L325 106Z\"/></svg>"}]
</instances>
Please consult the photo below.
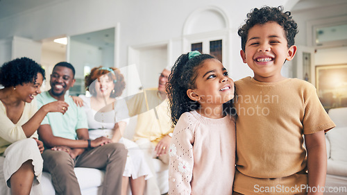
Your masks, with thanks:
<instances>
[{"instance_id":1,"label":"little girl's long dark curly hair pulled back","mask_svg":"<svg viewBox=\"0 0 347 195\"><path fill-rule=\"evenodd\" d=\"M171 68L169 75L169 85L167 85L167 94L171 108L171 121L173 126L177 124L180 115L199 108L199 103L189 99L188 89L195 89L195 80L198 67L204 60L214 58L209 54L201 54L194 58L188 58L189 53L181 55ZM215 59L215 58L214 58Z\"/></svg>"}]
</instances>

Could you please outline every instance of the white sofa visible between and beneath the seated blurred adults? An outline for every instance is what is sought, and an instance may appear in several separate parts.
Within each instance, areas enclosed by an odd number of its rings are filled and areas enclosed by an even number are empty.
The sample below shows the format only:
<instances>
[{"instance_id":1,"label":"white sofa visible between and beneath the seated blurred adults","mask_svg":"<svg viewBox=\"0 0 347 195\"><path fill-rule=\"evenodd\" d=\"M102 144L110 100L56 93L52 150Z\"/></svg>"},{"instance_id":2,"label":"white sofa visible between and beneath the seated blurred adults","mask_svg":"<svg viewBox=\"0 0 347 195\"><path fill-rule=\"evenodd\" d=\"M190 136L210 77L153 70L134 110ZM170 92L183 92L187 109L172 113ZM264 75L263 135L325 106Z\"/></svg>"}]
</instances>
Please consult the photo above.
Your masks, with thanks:
<instances>
[{"instance_id":1,"label":"white sofa visible between and beneath the seated blurred adults","mask_svg":"<svg viewBox=\"0 0 347 195\"><path fill-rule=\"evenodd\" d=\"M135 126L136 126L137 117L131 117L129 125L125 130L124 137L131 139L134 134ZM165 166L160 160L153 159L155 163L155 172L157 174L158 184L160 184L160 192L164 194L169 191L169 170L168 167ZM91 168L82 168L76 167L75 169L76 177L78 179L78 183L81 187L82 195L101 195L102 192L102 183L104 172L98 169ZM55 195L53 185L51 183L51 174L44 172L42 174L42 194L44 195ZM130 188L128 188L128 194L131 194ZM147 195L155 195L155 194L147 194Z\"/></svg>"}]
</instances>

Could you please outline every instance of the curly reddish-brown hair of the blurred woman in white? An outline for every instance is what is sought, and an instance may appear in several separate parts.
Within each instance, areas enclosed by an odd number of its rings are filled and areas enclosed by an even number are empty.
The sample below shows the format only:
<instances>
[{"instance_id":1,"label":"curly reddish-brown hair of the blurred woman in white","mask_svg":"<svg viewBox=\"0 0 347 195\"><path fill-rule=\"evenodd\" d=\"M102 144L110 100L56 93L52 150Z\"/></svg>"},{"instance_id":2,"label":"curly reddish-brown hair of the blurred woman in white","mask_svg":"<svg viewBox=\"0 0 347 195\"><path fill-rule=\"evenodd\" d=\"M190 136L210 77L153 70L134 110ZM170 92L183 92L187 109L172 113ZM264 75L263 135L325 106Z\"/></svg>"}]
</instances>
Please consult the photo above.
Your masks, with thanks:
<instances>
[{"instance_id":1,"label":"curly reddish-brown hair of the blurred woman in white","mask_svg":"<svg viewBox=\"0 0 347 195\"><path fill-rule=\"evenodd\" d=\"M113 88L115 92L112 92L110 97L115 98L117 96L121 96L121 93L123 93L123 90L126 88L126 81L124 80L124 76L121 74L121 71L113 67L94 67L90 71L90 74L85 76L85 88L90 92L90 94L92 94L92 96L96 96L96 82L93 81L105 74L107 74L108 78L113 80L113 83L115 83L115 88Z\"/></svg>"}]
</instances>

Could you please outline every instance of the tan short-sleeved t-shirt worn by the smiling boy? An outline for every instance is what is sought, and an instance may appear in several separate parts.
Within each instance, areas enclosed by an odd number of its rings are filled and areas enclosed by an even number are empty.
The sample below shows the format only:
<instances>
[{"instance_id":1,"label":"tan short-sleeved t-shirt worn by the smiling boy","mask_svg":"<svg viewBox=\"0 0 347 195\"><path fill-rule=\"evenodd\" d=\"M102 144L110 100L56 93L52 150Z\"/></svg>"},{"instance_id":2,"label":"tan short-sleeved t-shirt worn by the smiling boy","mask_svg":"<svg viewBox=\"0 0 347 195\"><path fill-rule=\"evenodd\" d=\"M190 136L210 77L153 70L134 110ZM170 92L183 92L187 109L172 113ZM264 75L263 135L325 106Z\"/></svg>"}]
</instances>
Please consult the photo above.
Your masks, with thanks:
<instances>
[{"instance_id":1,"label":"tan short-sleeved t-shirt worn by the smiling boy","mask_svg":"<svg viewBox=\"0 0 347 195\"><path fill-rule=\"evenodd\" d=\"M296 78L261 83L251 77L237 80L235 86L238 115L235 191L254 193L257 190L254 185L306 185L303 135L335 126L314 86Z\"/></svg>"}]
</instances>

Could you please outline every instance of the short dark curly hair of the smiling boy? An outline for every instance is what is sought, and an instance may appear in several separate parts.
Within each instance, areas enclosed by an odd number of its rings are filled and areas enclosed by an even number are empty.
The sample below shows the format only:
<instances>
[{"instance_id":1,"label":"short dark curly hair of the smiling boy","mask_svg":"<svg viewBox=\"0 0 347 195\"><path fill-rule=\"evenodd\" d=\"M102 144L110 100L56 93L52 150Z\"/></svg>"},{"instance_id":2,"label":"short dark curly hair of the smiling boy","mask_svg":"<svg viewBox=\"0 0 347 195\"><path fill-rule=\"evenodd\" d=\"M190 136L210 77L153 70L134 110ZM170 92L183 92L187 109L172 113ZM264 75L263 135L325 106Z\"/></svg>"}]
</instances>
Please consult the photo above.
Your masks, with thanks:
<instances>
[{"instance_id":1,"label":"short dark curly hair of the smiling boy","mask_svg":"<svg viewBox=\"0 0 347 195\"><path fill-rule=\"evenodd\" d=\"M277 22L282 26L287 37L288 48L294 45L294 37L298 33L298 24L292 19L291 12L283 12L283 6L278 8L271 8L269 6L262 7L260 9L254 8L247 14L246 24L239 28L237 33L241 37L242 50L245 49L248 31L256 24L265 24L266 22Z\"/></svg>"}]
</instances>

